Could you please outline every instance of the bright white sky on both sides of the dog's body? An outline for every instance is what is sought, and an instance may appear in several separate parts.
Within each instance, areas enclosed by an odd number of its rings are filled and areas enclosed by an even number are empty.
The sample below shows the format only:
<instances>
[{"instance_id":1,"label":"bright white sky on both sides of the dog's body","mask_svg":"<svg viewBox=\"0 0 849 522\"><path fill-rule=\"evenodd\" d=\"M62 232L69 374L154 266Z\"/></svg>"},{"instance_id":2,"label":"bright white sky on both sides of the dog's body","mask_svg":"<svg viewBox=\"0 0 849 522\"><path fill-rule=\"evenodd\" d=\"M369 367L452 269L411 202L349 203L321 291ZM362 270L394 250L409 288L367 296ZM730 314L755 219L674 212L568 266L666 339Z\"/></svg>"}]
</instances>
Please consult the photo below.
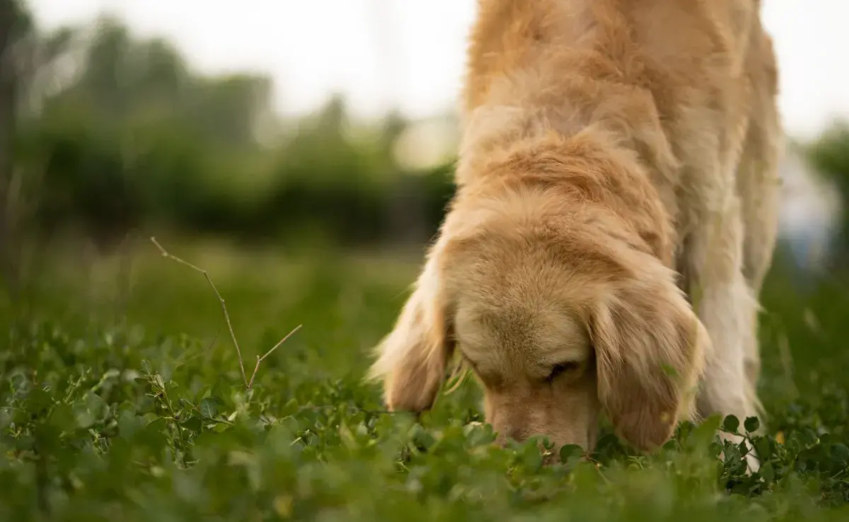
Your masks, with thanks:
<instances>
[{"instance_id":1,"label":"bright white sky on both sides of the dog's body","mask_svg":"<svg viewBox=\"0 0 849 522\"><path fill-rule=\"evenodd\" d=\"M103 12L167 36L204 71L264 70L286 114L334 91L361 115L396 105L413 117L452 109L475 0L31 0L43 27ZM790 134L812 138L849 117L849 2L765 0Z\"/></svg>"}]
</instances>

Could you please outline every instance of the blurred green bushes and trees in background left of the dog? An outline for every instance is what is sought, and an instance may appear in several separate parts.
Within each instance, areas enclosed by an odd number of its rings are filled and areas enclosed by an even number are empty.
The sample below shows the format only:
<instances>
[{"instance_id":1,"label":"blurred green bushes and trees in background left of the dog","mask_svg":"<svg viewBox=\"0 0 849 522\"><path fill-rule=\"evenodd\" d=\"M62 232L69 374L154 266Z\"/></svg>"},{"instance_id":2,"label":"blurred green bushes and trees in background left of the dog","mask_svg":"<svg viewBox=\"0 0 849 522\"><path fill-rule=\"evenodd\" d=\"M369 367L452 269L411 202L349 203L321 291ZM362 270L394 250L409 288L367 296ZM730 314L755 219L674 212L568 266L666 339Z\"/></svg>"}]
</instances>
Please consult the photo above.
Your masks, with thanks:
<instances>
[{"instance_id":1,"label":"blurred green bushes and trees in background left of the dog","mask_svg":"<svg viewBox=\"0 0 849 522\"><path fill-rule=\"evenodd\" d=\"M15 172L27 233L84 233L108 248L138 229L335 244L436 232L451 164L397 166L400 117L357 125L332 98L281 121L266 76L200 75L115 20L22 26ZM411 215L418 228L393 228Z\"/></svg>"}]
</instances>

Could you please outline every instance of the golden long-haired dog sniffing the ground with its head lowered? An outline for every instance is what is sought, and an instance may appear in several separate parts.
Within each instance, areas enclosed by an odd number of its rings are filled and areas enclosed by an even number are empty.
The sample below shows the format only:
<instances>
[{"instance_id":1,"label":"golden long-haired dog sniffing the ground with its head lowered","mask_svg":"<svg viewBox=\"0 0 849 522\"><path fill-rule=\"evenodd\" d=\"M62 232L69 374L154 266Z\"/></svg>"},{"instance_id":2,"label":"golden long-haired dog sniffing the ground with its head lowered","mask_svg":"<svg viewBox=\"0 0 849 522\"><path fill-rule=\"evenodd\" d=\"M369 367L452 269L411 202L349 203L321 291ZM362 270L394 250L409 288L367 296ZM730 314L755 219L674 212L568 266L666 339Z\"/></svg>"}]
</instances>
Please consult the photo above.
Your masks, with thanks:
<instances>
[{"instance_id":1,"label":"golden long-haired dog sniffing the ground with its head lowered","mask_svg":"<svg viewBox=\"0 0 849 522\"><path fill-rule=\"evenodd\" d=\"M499 441L591 451L604 413L650 451L763 416L784 134L760 7L479 0L456 191L369 372L391 410L430 408L456 355Z\"/></svg>"}]
</instances>

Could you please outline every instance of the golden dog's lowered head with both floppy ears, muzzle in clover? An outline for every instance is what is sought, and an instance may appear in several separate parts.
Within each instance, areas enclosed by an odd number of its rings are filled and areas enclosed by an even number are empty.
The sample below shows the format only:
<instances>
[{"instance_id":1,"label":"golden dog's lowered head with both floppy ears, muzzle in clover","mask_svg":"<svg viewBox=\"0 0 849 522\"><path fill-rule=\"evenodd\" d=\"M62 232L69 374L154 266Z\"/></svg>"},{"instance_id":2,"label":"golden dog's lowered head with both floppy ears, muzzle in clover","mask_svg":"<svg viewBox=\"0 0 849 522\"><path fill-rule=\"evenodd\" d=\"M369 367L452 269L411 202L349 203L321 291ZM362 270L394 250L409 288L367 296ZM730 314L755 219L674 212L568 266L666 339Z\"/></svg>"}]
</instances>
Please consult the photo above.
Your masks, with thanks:
<instances>
[{"instance_id":1,"label":"golden dog's lowered head with both floppy ears, muzzle in clover","mask_svg":"<svg viewBox=\"0 0 849 522\"><path fill-rule=\"evenodd\" d=\"M692 414L704 327L615 219L551 206L517 194L455 209L372 375L391 409L421 411L458 351L502 438L591 449L604 411L633 446L661 445Z\"/></svg>"}]
</instances>

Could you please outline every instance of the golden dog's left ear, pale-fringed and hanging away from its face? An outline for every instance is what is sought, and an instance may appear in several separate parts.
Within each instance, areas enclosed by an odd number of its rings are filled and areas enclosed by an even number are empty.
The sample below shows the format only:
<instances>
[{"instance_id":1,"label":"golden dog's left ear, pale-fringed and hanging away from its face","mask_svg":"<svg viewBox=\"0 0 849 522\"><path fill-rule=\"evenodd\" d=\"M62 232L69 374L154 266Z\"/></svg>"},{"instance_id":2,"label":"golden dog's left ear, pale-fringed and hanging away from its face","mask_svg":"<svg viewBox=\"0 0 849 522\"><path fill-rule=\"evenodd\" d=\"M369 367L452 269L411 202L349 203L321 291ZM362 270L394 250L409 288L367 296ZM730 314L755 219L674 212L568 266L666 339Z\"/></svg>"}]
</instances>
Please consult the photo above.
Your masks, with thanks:
<instances>
[{"instance_id":1,"label":"golden dog's left ear, pale-fringed and hanging away from its face","mask_svg":"<svg viewBox=\"0 0 849 522\"><path fill-rule=\"evenodd\" d=\"M445 379L453 339L447 323L436 252L431 252L395 327L377 346L370 379L384 380L391 411L421 412L436 400Z\"/></svg>"}]
</instances>

